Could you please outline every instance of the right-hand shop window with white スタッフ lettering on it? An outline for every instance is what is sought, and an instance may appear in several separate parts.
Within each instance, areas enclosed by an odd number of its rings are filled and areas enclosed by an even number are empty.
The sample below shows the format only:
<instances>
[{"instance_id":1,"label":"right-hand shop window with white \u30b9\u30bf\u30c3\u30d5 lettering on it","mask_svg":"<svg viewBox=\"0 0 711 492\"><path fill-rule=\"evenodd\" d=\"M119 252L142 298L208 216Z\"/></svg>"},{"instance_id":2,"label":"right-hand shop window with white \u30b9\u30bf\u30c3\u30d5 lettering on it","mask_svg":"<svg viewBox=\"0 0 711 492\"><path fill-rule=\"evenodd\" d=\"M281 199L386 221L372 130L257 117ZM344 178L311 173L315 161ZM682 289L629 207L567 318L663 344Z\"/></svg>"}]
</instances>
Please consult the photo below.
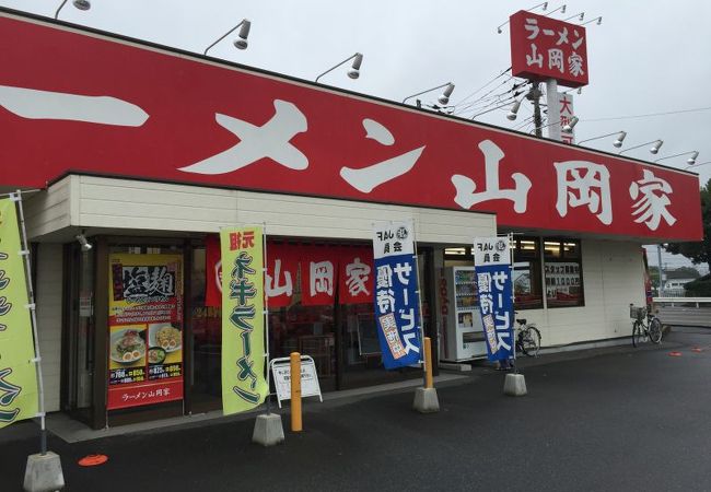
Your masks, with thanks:
<instances>
[{"instance_id":1,"label":"right-hand shop window with white \u30b9\u30bf\u30c3\u30d5 lettering on it","mask_svg":"<svg viewBox=\"0 0 711 492\"><path fill-rule=\"evenodd\" d=\"M548 307L584 305L580 241L544 239L544 259Z\"/></svg>"}]
</instances>

